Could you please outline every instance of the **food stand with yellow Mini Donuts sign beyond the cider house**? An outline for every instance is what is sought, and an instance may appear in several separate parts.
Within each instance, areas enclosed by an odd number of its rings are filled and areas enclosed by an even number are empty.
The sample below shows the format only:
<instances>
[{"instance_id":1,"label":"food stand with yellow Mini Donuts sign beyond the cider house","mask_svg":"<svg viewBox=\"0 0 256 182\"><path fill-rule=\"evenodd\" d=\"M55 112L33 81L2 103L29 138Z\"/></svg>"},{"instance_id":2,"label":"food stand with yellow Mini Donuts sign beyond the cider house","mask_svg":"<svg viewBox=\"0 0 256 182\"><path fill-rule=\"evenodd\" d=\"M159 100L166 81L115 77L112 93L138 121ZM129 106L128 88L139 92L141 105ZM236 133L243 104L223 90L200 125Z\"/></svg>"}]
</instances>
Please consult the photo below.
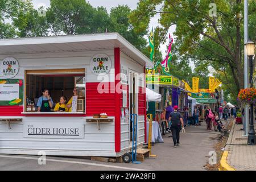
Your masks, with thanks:
<instances>
[{"instance_id":1,"label":"food stand with yellow Mini Donuts sign beyond the cider house","mask_svg":"<svg viewBox=\"0 0 256 182\"><path fill-rule=\"evenodd\" d=\"M188 117L188 92L184 90L183 82L173 76L155 75L152 69L146 69L147 88L162 96L161 102L148 102L147 114L152 114L154 121L158 121L164 133L166 128L165 111L167 102L172 106L178 105L185 124Z\"/></svg>"}]
</instances>

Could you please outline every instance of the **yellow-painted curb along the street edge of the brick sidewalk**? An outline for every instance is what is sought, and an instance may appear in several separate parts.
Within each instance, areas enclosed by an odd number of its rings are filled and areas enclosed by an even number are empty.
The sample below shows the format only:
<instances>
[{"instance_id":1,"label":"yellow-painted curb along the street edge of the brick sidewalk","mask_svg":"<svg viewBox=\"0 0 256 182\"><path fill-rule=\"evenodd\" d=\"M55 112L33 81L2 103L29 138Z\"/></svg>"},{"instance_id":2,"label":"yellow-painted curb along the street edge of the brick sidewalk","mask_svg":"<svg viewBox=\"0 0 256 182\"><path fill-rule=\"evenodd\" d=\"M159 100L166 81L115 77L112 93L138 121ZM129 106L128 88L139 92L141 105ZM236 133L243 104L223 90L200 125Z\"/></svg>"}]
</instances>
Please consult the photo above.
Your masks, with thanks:
<instances>
[{"instance_id":1,"label":"yellow-painted curb along the street edge of the brick sidewalk","mask_svg":"<svg viewBox=\"0 0 256 182\"><path fill-rule=\"evenodd\" d=\"M228 138L227 143L231 143L232 137L233 137L233 132L234 132L234 126L236 122L233 121L232 129L230 131L230 135ZM228 148L228 147L226 147ZM236 171L233 167L231 167L227 162L226 159L228 158L228 149L225 148L225 151L222 154L221 160L220 160L220 167L218 168L219 171Z\"/></svg>"}]
</instances>

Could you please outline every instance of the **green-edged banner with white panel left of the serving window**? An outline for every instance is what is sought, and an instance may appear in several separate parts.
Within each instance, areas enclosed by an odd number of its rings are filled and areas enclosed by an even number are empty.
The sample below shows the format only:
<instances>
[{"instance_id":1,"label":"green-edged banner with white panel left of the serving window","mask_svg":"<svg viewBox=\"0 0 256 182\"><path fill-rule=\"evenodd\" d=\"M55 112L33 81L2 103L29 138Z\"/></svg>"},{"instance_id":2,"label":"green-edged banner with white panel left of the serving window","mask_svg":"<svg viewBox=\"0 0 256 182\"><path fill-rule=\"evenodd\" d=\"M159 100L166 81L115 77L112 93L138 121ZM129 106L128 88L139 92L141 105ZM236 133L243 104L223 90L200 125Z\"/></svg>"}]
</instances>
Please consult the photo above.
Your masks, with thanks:
<instances>
[{"instance_id":1,"label":"green-edged banner with white panel left of the serving window","mask_svg":"<svg viewBox=\"0 0 256 182\"><path fill-rule=\"evenodd\" d=\"M23 105L23 80L0 79L0 106Z\"/></svg>"}]
</instances>

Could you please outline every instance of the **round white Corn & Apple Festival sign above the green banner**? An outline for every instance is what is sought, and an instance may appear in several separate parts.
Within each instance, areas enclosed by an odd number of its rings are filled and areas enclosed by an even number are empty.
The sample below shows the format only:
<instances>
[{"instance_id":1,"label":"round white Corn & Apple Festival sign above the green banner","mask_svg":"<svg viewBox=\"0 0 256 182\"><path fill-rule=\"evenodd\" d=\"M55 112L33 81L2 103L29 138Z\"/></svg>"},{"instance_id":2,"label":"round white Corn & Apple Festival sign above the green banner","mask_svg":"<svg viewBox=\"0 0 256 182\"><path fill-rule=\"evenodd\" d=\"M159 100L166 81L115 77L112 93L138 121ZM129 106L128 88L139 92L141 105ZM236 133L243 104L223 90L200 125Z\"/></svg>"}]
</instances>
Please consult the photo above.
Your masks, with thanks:
<instances>
[{"instance_id":1,"label":"round white Corn & Apple Festival sign above the green banner","mask_svg":"<svg viewBox=\"0 0 256 182\"><path fill-rule=\"evenodd\" d=\"M0 72L5 78L13 78L19 72L19 62L14 57L6 57L0 61Z\"/></svg>"}]
</instances>

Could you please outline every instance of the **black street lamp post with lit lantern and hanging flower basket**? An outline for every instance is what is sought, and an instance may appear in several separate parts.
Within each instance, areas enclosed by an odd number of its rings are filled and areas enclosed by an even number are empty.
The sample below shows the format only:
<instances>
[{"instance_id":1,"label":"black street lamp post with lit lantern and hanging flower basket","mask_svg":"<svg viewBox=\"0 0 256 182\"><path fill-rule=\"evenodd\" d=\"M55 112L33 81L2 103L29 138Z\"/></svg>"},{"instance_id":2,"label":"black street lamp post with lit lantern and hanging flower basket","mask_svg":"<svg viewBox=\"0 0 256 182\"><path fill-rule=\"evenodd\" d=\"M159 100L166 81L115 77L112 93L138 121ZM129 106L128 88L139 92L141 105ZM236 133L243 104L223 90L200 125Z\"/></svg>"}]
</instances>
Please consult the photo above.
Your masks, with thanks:
<instances>
[{"instance_id":1,"label":"black street lamp post with lit lantern and hanging flower basket","mask_svg":"<svg viewBox=\"0 0 256 182\"><path fill-rule=\"evenodd\" d=\"M255 43L251 40L248 40L248 42L245 44L246 50L247 50L247 56L249 57L249 67L250 67L250 88L253 88L253 56L254 56L254 50L255 50ZM255 144L255 130L254 130L254 110L253 110L253 104L250 104L250 129L248 133L248 144Z\"/></svg>"}]
</instances>

